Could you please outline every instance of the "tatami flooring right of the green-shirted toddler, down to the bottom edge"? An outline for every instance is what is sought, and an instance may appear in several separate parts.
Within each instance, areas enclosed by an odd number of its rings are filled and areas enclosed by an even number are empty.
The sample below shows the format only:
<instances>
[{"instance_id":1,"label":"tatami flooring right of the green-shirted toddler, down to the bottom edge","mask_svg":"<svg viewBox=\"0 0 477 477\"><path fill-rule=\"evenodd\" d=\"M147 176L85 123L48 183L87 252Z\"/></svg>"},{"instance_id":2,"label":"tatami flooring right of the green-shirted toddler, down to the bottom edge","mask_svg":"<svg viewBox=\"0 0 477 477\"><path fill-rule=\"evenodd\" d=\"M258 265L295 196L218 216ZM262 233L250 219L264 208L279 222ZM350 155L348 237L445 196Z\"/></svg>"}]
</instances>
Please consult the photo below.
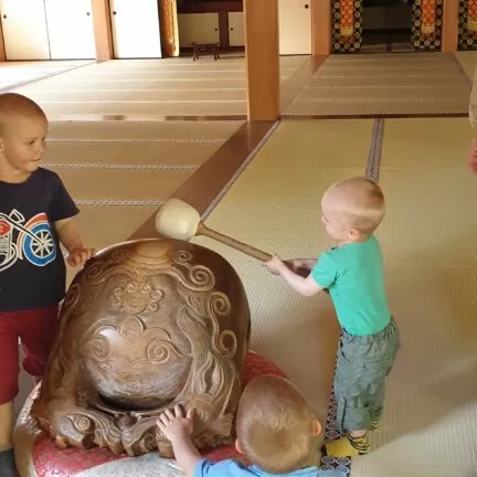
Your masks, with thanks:
<instances>
[{"instance_id":1,"label":"tatami flooring right of the green-shirted toddler, down to the bottom edge","mask_svg":"<svg viewBox=\"0 0 477 477\"><path fill-rule=\"evenodd\" d=\"M465 119L386 120L379 230L402 350L353 477L469 477L477 447L476 178ZM399 456L399 457L398 457Z\"/></svg>"}]
</instances>

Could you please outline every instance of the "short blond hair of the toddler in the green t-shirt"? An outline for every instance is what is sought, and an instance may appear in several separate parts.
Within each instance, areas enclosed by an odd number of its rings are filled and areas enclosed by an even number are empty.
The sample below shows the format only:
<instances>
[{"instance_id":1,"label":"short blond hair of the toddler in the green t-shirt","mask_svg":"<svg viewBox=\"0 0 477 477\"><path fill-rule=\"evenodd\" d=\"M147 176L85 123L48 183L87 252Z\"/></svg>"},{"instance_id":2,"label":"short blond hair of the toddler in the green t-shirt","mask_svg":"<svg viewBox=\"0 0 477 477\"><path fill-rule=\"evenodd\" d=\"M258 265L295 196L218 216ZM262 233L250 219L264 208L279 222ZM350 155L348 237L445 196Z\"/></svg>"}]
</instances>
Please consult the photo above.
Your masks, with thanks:
<instances>
[{"instance_id":1,"label":"short blond hair of the toddler in the green t-shirt","mask_svg":"<svg viewBox=\"0 0 477 477\"><path fill-rule=\"evenodd\" d=\"M384 194L379 184L368 177L338 181L325 195L332 197L332 208L341 214L347 225L363 234L373 233L384 218Z\"/></svg>"}]
</instances>

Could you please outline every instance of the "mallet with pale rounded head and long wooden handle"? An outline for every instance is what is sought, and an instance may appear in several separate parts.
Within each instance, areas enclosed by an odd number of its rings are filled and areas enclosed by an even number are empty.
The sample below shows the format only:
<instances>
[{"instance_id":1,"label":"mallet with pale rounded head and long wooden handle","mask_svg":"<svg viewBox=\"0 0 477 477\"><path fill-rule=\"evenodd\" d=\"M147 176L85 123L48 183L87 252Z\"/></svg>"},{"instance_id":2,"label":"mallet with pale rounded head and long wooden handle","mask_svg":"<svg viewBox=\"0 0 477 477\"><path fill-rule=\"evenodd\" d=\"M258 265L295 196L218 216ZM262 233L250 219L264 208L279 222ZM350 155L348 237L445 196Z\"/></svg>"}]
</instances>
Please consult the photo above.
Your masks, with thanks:
<instances>
[{"instance_id":1,"label":"mallet with pale rounded head and long wooden handle","mask_svg":"<svg viewBox=\"0 0 477 477\"><path fill-rule=\"evenodd\" d=\"M209 229L201 221L199 212L192 205L179 199L168 199L161 205L156 215L156 230L158 233L169 239L187 242L197 235L204 235L261 262L268 262L272 259L272 255L268 253ZM292 268L289 263L287 263L287 265ZM309 275L309 271L306 268L294 271L301 276Z\"/></svg>"}]
</instances>

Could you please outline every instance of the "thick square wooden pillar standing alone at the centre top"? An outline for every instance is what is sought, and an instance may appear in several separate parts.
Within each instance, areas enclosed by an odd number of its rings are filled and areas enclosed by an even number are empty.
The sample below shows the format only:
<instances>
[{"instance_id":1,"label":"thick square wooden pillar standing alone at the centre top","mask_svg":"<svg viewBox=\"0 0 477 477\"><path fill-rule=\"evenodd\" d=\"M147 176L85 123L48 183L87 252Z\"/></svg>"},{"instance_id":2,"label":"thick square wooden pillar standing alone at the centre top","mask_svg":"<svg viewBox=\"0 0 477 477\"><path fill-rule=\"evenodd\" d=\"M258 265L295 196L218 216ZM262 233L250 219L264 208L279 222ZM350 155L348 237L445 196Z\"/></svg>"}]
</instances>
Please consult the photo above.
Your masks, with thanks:
<instances>
[{"instance_id":1,"label":"thick square wooden pillar standing alone at the centre top","mask_svg":"<svg viewBox=\"0 0 477 477\"><path fill-rule=\"evenodd\" d=\"M248 120L279 117L278 0L244 0Z\"/></svg>"}]
</instances>

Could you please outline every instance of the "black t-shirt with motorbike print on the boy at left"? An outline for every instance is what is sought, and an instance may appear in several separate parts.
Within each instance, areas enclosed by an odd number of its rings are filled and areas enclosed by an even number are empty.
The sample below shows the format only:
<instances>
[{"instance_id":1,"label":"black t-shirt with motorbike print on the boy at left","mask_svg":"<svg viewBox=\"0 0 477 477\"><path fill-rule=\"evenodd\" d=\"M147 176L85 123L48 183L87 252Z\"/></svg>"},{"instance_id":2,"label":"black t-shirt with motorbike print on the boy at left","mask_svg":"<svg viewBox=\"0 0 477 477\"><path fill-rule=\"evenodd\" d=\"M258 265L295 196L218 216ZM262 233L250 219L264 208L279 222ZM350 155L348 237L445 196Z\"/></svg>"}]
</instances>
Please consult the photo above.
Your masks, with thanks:
<instances>
[{"instance_id":1,"label":"black t-shirt with motorbike print on the boy at left","mask_svg":"<svg viewBox=\"0 0 477 477\"><path fill-rule=\"evenodd\" d=\"M63 299L66 267L54 222L78 212L59 176L46 169L22 183L0 181L0 311Z\"/></svg>"}]
</instances>

